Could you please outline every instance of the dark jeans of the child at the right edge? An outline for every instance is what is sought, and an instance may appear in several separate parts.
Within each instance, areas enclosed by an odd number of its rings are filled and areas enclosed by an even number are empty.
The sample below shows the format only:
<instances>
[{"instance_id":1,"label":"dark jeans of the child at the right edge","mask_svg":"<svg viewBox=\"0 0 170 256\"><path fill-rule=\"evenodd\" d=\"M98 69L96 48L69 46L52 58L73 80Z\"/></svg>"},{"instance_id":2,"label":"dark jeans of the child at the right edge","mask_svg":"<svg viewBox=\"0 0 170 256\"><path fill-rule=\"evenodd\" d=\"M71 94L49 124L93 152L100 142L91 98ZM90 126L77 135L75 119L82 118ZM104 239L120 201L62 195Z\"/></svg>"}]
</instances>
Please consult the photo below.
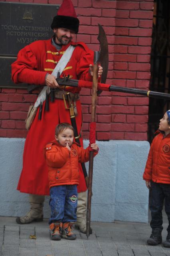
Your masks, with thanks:
<instances>
[{"instance_id":1,"label":"dark jeans of the child at the right edge","mask_svg":"<svg viewBox=\"0 0 170 256\"><path fill-rule=\"evenodd\" d=\"M150 211L152 219L150 226L152 229L161 232L162 227L162 208L165 199L165 212L168 216L169 226L167 228L168 233L170 232L170 184L155 183L151 182L151 200L150 200Z\"/></svg>"}]
</instances>

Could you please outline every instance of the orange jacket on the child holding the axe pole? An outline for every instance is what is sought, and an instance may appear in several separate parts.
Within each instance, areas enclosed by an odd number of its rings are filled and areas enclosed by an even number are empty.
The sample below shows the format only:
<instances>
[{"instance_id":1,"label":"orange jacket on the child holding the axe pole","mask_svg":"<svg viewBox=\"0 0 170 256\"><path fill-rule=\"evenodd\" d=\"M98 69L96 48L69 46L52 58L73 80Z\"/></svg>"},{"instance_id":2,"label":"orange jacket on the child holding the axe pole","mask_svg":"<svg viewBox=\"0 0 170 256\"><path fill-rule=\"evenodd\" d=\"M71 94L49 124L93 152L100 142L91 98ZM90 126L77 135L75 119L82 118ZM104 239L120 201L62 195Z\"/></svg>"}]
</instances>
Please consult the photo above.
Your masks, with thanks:
<instances>
[{"instance_id":1,"label":"orange jacket on the child holding the axe pole","mask_svg":"<svg viewBox=\"0 0 170 256\"><path fill-rule=\"evenodd\" d=\"M78 163L89 161L89 149L79 147L76 142L73 142L70 148L71 151L56 140L46 145L45 158L48 165L49 188L79 184ZM97 153L94 152L94 156Z\"/></svg>"}]
</instances>

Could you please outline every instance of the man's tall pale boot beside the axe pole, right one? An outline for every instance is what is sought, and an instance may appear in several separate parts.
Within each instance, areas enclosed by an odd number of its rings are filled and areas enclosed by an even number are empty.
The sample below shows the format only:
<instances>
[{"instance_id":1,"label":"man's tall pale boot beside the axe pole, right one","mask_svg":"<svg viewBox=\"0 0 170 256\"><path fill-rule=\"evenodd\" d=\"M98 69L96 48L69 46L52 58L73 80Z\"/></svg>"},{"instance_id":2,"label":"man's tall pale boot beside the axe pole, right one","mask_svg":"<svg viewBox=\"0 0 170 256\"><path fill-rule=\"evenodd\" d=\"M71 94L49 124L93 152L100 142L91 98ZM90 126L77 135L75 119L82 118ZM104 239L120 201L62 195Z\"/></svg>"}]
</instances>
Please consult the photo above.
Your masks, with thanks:
<instances>
[{"instance_id":1,"label":"man's tall pale boot beside the axe pole, right one","mask_svg":"<svg viewBox=\"0 0 170 256\"><path fill-rule=\"evenodd\" d=\"M87 210L87 192L78 193L77 203L77 221L75 223L76 228L80 229L80 232L86 234L86 210ZM92 229L90 228L90 234Z\"/></svg>"}]
</instances>

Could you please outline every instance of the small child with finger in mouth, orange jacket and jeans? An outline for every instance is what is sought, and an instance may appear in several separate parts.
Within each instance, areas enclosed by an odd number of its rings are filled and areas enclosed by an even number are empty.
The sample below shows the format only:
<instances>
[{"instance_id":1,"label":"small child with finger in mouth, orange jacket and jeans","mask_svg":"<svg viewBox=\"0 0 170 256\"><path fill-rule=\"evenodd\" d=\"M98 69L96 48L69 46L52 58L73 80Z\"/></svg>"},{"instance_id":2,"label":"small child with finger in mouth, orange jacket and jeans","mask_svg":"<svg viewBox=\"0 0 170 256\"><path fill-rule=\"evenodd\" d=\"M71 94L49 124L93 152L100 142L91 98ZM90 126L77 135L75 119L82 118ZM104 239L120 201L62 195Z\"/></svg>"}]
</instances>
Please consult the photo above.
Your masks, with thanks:
<instances>
[{"instance_id":1,"label":"small child with finger in mouth, orange jacket and jeans","mask_svg":"<svg viewBox=\"0 0 170 256\"><path fill-rule=\"evenodd\" d=\"M52 240L76 239L72 225L76 222L78 163L89 161L89 147L84 149L74 140L74 129L68 123L58 124L55 140L46 145L51 217L49 219ZM91 144L94 156L98 145Z\"/></svg>"}]
</instances>

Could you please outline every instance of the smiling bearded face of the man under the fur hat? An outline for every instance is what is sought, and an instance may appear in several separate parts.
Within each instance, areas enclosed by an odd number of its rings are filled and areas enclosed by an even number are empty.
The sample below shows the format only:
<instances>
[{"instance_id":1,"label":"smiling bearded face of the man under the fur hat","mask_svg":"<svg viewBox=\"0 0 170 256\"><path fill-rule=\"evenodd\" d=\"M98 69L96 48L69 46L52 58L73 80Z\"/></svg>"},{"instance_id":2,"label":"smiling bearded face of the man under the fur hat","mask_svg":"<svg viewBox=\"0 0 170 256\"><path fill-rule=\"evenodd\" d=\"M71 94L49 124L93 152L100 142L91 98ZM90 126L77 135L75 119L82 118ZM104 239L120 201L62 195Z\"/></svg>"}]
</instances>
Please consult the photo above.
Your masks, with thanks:
<instances>
[{"instance_id":1,"label":"smiling bearded face of the man under the fur hat","mask_svg":"<svg viewBox=\"0 0 170 256\"><path fill-rule=\"evenodd\" d=\"M73 39L75 32L67 28L54 28L54 33L56 34L56 43L67 45Z\"/></svg>"}]
</instances>

